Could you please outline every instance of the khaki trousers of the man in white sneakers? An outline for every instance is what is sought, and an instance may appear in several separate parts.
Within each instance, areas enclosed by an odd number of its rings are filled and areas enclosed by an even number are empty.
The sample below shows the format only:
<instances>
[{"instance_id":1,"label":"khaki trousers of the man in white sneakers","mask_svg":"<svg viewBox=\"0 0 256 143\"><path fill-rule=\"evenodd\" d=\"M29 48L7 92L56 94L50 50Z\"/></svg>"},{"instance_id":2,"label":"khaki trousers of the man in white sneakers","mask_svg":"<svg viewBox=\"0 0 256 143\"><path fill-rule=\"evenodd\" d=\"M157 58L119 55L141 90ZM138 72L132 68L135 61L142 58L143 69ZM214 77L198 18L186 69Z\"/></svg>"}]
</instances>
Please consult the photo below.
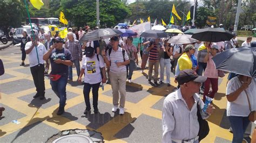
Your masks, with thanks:
<instances>
[{"instance_id":1,"label":"khaki trousers of the man in white sneakers","mask_svg":"<svg viewBox=\"0 0 256 143\"><path fill-rule=\"evenodd\" d=\"M110 82L113 94L113 105L118 106L120 103L120 108L124 108L125 96L126 96L126 71L122 73L113 73L110 71ZM119 92L120 92L120 102Z\"/></svg>"}]
</instances>

